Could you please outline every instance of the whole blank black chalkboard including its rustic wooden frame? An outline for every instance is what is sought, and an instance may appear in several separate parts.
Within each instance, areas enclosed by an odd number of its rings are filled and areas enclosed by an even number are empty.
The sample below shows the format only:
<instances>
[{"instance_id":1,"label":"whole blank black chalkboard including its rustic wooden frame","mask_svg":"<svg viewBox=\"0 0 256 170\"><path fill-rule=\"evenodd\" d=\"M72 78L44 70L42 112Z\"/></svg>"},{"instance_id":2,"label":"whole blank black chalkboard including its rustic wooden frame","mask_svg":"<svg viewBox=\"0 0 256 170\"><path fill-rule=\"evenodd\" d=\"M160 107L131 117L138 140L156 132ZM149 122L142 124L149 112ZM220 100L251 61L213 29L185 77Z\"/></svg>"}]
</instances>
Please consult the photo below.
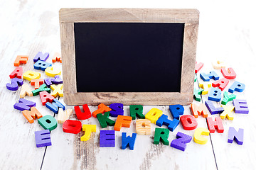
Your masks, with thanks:
<instances>
[{"instance_id":1,"label":"whole blank black chalkboard including its rustic wooden frame","mask_svg":"<svg viewBox=\"0 0 256 170\"><path fill-rule=\"evenodd\" d=\"M64 102L193 101L196 9L62 8Z\"/></svg>"}]
</instances>

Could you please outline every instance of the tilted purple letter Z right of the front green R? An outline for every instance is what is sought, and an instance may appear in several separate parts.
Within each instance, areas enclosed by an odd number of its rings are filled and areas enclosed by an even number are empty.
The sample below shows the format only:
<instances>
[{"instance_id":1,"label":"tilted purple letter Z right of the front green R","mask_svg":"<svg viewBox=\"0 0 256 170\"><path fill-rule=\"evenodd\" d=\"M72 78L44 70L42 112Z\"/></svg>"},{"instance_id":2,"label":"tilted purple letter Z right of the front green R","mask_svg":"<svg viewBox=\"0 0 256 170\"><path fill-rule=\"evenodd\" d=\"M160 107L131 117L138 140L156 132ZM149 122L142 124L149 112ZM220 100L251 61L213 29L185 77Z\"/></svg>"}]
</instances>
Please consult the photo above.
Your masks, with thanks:
<instances>
[{"instance_id":1,"label":"tilted purple letter Z right of the front green R","mask_svg":"<svg viewBox=\"0 0 256 170\"><path fill-rule=\"evenodd\" d=\"M171 141L171 147L182 151L185 151L186 143L189 143L192 140L192 137L190 135L186 135L182 132L178 132L176 138L176 140Z\"/></svg>"}]
</instances>

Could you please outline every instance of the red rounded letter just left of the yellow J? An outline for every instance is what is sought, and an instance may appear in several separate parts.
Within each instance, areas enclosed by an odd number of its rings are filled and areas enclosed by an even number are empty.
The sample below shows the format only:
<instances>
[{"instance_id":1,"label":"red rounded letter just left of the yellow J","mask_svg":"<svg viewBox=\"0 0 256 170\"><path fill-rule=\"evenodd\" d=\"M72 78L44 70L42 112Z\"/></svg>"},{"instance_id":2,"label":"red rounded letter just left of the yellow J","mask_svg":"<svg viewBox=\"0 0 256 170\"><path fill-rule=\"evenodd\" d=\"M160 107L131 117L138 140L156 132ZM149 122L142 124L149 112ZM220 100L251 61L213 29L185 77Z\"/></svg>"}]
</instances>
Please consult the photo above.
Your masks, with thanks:
<instances>
[{"instance_id":1,"label":"red rounded letter just left of the yellow J","mask_svg":"<svg viewBox=\"0 0 256 170\"><path fill-rule=\"evenodd\" d=\"M65 120L63 123L63 132L78 134L81 129L82 123L78 120Z\"/></svg>"}]
</instances>

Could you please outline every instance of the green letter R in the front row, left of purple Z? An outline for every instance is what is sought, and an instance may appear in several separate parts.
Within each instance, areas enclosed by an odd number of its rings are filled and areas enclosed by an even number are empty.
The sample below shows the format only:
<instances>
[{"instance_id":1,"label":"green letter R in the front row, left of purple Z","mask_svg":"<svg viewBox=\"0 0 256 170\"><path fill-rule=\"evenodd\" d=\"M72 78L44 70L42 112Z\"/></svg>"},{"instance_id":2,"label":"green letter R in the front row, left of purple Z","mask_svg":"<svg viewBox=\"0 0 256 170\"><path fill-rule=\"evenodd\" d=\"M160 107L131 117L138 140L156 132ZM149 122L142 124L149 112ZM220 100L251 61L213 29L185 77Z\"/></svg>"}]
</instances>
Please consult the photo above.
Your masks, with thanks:
<instances>
[{"instance_id":1,"label":"green letter R in the front row, left of purple Z","mask_svg":"<svg viewBox=\"0 0 256 170\"><path fill-rule=\"evenodd\" d=\"M154 144L159 145L159 142L163 142L164 145L169 145L168 137L169 130L163 128L156 128L154 135Z\"/></svg>"}]
</instances>

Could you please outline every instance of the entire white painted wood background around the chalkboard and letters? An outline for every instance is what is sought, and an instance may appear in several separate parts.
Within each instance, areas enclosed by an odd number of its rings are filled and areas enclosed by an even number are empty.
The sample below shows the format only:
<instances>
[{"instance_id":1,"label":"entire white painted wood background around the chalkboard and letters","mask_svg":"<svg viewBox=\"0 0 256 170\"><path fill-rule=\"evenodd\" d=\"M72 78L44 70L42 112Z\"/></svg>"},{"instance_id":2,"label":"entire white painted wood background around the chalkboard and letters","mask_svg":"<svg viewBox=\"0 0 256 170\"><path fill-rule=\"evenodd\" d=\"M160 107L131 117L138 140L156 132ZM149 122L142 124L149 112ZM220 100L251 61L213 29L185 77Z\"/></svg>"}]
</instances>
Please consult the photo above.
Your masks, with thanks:
<instances>
[{"instance_id":1,"label":"entire white painted wood background around the chalkboard and letters","mask_svg":"<svg viewBox=\"0 0 256 170\"><path fill-rule=\"evenodd\" d=\"M238 74L236 80L245 83L245 91L237 98L245 98L250 108L248 115L235 114L234 120L223 120L223 134L210 134L206 145L191 141L185 152L165 145L154 145L154 128L150 136L137 135L134 151L122 150L121 132L132 135L131 128L116 132L116 147L100 148L100 124L95 118L82 120L82 124L96 124L97 132L89 141L81 142L78 135L63 132L62 125L50 134L52 146L37 148L34 131L43 130L37 120L27 122L21 111L14 109L18 102L18 91L6 89L9 74L15 69L16 55L29 55L23 71L33 70L33 57L38 51L60 52L58 10L60 8L198 8L201 12L198 32L197 61L204 62L201 72L213 70L210 62L221 59L233 67ZM256 24L253 1L0 1L0 169L256 169L255 149L255 79ZM50 59L48 59L50 61ZM61 64L53 64L61 67ZM43 78L47 77L41 72ZM222 74L216 70L220 77ZM202 81L199 78L198 81ZM232 81L233 82L233 81ZM228 85L228 87L232 84ZM28 84L28 81L24 81ZM198 87L197 82L195 86ZM228 89L226 88L226 90ZM202 96L206 101L206 96ZM41 105L39 96L26 99L36 101L36 108L43 115L54 115ZM60 98L62 100L62 98ZM194 101L194 103L198 103ZM218 106L219 103L215 103ZM144 106L144 114L156 107L169 113L169 106ZM68 106L72 108L72 106ZM95 111L96 106L90 106ZM124 115L129 106L124 106ZM185 114L191 114L185 106ZM215 117L218 115L210 115ZM57 115L55 116L57 117ZM71 119L76 120L75 113ZM199 117L198 127L207 128L206 119ZM245 129L244 144L229 144L230 126ZM107 128L112 129L112 127ZM181 125L170 132L169 142L178 131L193 136L192 131L183 130Z\"/></svg>"}]
</instances>

